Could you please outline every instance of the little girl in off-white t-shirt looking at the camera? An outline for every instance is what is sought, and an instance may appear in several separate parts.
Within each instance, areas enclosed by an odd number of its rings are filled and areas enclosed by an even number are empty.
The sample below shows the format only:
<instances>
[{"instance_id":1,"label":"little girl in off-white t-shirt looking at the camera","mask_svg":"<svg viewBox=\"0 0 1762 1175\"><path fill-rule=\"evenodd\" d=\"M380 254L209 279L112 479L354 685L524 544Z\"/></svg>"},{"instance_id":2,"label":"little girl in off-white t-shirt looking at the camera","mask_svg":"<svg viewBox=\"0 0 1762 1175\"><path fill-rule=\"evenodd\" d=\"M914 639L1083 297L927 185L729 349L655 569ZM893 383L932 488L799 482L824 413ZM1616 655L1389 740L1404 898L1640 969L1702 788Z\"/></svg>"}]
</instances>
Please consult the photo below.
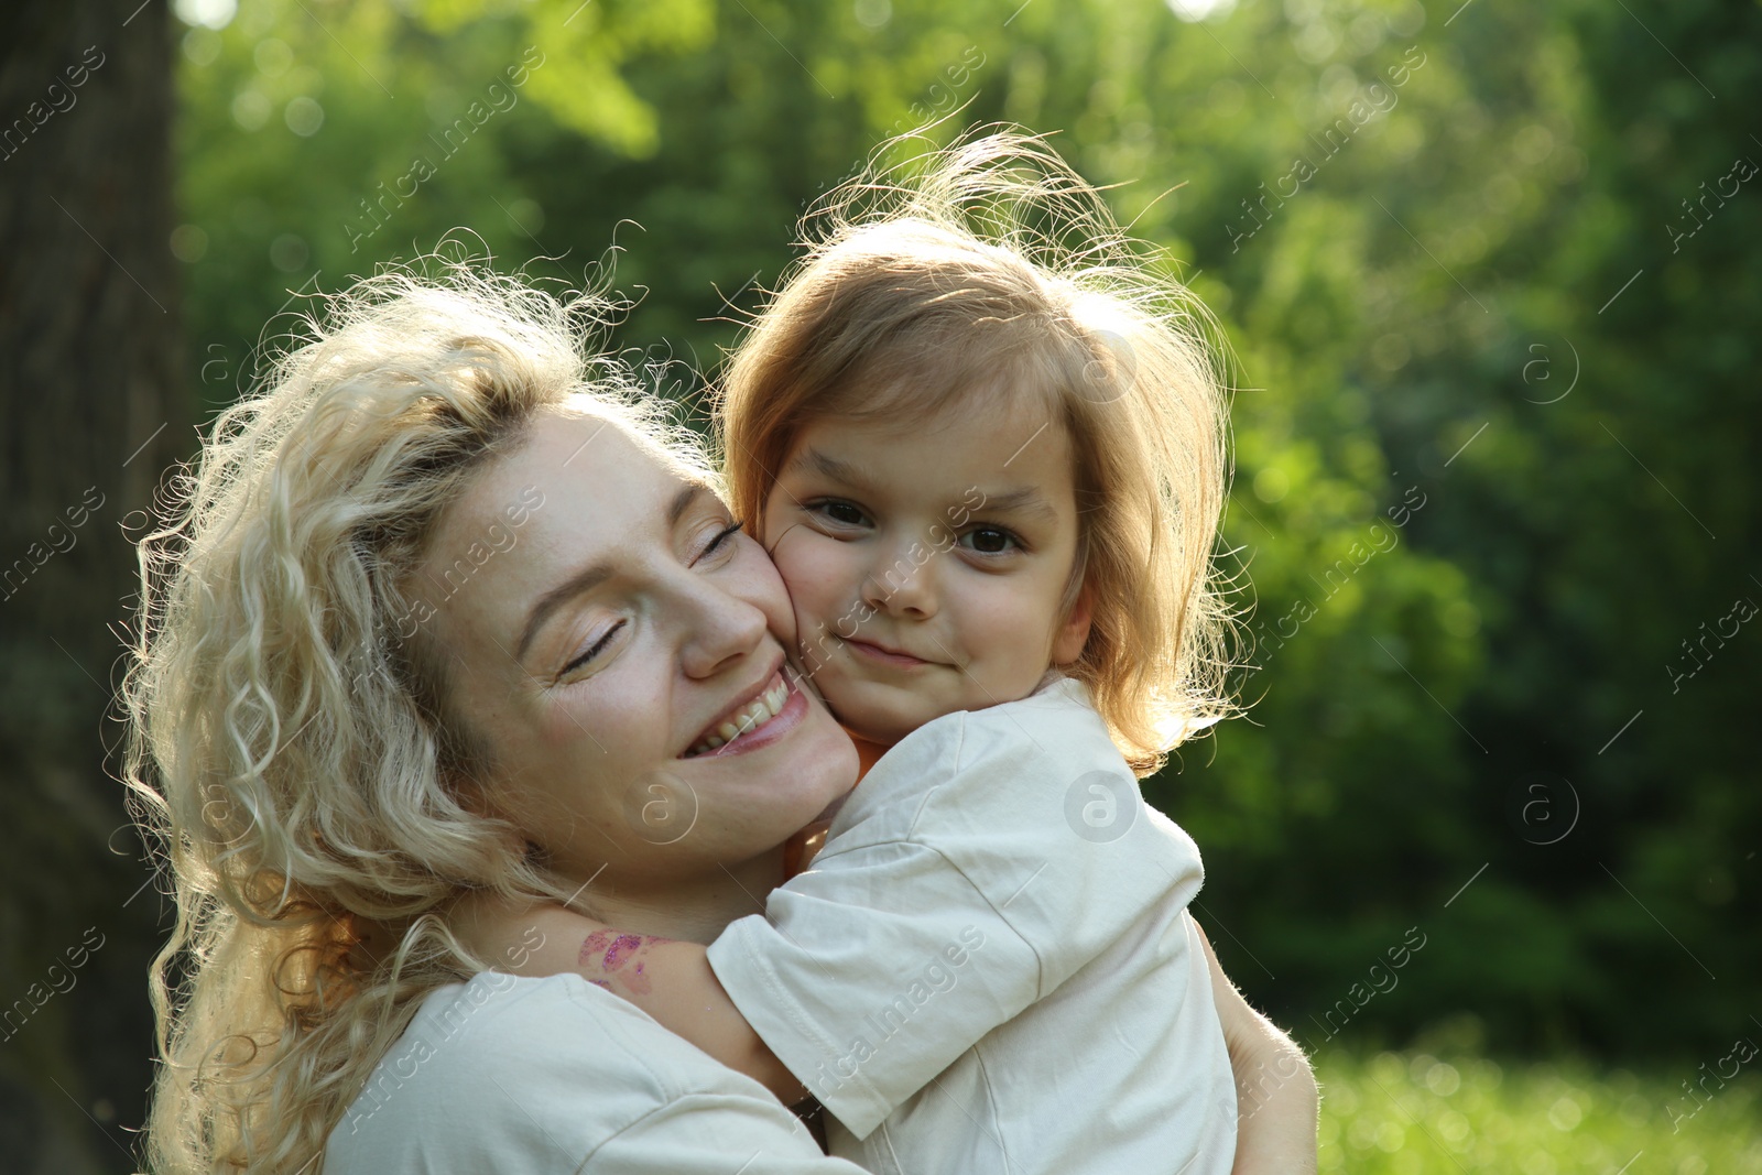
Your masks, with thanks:
<instances>
[{"instance_id":1,"label":"little girl in off-white t-shirt looking at the camera","mask_svg":"<svg viewBox=\"0 0 1762 1175\"><path fill-rule=\"evenodd\" d=\"M1200 856L1136 782L1225 710L1207 319L1034 141L823 215L721 425L869 772L763 918L701 948L552 911L529 971L805 1087L870 1171L1228 1171Z\"/></svg>"}]
</instances>

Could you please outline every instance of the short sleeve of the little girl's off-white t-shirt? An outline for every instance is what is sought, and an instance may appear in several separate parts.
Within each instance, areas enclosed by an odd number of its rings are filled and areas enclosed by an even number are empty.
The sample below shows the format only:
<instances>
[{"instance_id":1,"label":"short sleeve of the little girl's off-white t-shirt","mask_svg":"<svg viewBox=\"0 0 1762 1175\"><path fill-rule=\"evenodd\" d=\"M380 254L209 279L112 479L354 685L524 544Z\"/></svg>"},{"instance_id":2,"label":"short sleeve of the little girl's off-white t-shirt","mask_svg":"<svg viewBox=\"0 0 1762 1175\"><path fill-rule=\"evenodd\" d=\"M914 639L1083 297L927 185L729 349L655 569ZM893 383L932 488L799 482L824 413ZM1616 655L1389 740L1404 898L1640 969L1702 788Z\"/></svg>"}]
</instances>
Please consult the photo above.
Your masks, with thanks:
<instances>
[{"instance_id":1,"label":"short sleeve of the little girl's off-white t-shirt","mask_svg":"<svg viewBox=\"0 0 1762 1175\"><path fill-rule=\"evenodd\" d=\"M865 1138L1200 876L1087 706L948 715L888 750L814 867L733 923L710 965Z\"/></svg>"}]
</instances>

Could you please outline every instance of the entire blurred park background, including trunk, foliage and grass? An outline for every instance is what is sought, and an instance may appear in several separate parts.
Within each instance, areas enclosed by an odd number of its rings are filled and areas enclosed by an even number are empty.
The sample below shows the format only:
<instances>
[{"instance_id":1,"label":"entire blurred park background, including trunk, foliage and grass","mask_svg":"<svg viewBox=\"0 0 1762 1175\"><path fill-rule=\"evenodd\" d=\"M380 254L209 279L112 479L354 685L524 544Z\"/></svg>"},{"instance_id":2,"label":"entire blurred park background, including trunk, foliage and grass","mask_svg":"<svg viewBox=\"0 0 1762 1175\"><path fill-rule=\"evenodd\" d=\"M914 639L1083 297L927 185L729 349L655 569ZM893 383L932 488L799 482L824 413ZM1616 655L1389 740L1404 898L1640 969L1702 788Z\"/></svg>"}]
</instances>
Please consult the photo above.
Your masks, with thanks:
<instances>
[{"instance_id":1,"label":"entire blurred park background, including trunk, foliage and grass","mask_svg":"<svg viewBox=\"0 0 1762 1175\"><path fill-rule=\"evenodd\" d=\"M1753 0L123 0L0 55L5 1170L136 1170L127 536L307 296L469 229L694 400L818 192L1010 120L1235 349L1253 705L1151 794L1323 1170L1762 1171Z\"/></svg>"}]
</instances>

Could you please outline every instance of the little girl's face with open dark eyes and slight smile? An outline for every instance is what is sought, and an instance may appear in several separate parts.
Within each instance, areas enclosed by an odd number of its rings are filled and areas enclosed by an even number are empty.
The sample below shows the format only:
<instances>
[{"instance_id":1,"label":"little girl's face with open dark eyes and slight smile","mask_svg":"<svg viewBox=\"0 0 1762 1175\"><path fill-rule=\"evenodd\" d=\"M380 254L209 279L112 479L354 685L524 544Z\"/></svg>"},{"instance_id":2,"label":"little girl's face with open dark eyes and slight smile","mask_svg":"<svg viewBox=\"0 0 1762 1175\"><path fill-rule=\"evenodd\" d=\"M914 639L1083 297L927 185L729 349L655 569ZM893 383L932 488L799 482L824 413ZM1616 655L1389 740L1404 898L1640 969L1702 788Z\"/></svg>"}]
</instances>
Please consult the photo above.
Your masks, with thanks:
<instances>
[{"instance_id":1,"label":"little girl's face with open dark eyes and slight smile","mask_svg":"<svg viewBox=\"0 0 1762 1175\"><path fill-rule=\"evenodd\" d=\"M1025 698L1089 638L1064 430L1024 396L930 425L816 421L765 504L802 666L853 735Z\"/></svg>"}]
</instances>

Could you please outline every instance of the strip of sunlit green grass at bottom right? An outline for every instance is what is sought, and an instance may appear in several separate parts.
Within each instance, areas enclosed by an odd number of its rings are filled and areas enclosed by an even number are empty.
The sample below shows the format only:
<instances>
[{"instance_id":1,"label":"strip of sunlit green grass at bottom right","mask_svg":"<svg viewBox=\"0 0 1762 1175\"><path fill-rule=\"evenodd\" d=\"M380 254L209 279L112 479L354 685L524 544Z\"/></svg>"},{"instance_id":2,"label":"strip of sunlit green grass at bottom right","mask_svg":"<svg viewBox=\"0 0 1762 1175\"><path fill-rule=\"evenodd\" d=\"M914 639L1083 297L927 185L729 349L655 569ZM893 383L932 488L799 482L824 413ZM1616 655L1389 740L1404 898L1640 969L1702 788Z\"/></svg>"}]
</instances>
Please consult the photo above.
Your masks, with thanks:
<instances>
[{"instance_id":1,"label":"strip of sunlit green grass at bottom right","mask_svg":"<svg viewBox=\"0 0 1762 1175\"><path fill-rule=\"evenodd\" d=\"M1762 1175L1757 1068L1723 1089L1709 1078L1716 1092L1695 1110L1683 1082L1711 1064L1637 1076L1573 1060L1323 1052L1322 1171Z\"/></svg>"}]
</instances>

